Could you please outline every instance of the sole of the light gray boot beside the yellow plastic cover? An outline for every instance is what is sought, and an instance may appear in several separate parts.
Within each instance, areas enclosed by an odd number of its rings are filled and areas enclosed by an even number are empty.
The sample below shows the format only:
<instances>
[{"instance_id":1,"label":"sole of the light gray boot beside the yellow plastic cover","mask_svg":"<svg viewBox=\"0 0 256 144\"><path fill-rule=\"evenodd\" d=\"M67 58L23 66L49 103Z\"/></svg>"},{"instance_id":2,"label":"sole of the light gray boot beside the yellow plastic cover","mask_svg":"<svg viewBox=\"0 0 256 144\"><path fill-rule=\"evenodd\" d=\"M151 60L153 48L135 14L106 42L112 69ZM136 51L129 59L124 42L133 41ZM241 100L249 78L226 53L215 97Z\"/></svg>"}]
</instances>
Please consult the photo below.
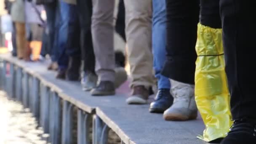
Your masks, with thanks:
<instances>
[{"instance_id":1,"label":"sole of the light gray boot beside the yellow plastic cover","mask_svg":"<svg viewBox=\"0 0 256 144\"><path fill-rule=\"evenodd\" d=\"M191 115L187 117L181 114L171 114L171 115L163 115L163 118L167 121L186 121L186 120L195 120L197 118L197 115Z\"/></svg>"}]
</instances>

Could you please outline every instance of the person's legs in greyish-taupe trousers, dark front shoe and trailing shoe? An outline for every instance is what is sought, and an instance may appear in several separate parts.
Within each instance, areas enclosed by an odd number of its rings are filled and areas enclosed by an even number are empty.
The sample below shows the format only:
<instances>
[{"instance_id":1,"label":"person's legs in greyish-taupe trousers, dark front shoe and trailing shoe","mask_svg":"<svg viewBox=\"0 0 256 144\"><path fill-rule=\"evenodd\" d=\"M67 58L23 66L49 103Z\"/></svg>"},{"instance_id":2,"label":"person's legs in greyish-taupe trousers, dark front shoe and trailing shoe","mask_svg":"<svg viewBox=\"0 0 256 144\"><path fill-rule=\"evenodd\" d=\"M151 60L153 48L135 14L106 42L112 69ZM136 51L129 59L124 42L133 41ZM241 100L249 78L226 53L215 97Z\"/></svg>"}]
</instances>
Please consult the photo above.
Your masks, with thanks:
<instances>
[{"instance_id":1,"label":"person's legs in greyish-taupe trousers, dark front shoe and trailing shoe","mask_svg":"<svg viewBox=\"0 0 256 144\"><path fill-rule=\"evenodd\" d=\"M116 69L114 52L114 8L115 0L92 0L92 40L96 59L98 84L91 90L93 96L115 95L127 79L123 68Z\"/></svg>"}]
</instances>

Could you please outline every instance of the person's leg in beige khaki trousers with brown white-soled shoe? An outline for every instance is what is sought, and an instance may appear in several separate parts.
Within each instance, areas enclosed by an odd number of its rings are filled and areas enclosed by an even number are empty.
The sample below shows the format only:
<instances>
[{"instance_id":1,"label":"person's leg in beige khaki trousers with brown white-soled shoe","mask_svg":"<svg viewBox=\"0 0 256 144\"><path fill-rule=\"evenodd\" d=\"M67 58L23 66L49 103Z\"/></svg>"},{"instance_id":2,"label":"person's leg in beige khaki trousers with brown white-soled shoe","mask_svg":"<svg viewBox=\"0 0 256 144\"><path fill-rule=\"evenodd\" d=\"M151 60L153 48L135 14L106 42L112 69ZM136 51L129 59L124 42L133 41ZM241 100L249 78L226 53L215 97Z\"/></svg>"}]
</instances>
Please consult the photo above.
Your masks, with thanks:
<instances>
[{"instance_id":1,"label":"person's leg in beige khaki trousers with brown white-soled shoe","mask_svg":"<svg viewBox=\"0 0 256 144\"><path fill-rule=\"evenodd\" d=\"M152 56L152 0L124 0L125 33L131 68L128 104L147 104L154 85Z\"/></svg>"}]
</instances>

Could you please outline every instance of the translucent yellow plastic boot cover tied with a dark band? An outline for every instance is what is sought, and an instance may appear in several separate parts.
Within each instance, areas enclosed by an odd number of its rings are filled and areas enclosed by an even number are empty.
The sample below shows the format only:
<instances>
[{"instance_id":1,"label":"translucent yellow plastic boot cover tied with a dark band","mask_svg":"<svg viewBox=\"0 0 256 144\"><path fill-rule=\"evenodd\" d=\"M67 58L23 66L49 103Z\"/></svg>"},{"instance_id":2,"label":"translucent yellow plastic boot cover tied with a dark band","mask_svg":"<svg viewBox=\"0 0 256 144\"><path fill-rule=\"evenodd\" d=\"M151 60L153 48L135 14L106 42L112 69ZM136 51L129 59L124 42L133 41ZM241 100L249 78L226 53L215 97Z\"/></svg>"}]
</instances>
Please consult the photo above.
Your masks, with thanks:
<instances>
[{"instance_id":1,"label":"translucent yellow plastic boot cover tied with a dark band","mask_svg":"<svg viewBox=\"0 0 256 144\"><path fill-rule=\"evenodd\" d=\"M198 24L196 51L195 100L205 123L197 138L209 142L224 138L232 125L222 29Z\"/></svg>"}]
</instances>

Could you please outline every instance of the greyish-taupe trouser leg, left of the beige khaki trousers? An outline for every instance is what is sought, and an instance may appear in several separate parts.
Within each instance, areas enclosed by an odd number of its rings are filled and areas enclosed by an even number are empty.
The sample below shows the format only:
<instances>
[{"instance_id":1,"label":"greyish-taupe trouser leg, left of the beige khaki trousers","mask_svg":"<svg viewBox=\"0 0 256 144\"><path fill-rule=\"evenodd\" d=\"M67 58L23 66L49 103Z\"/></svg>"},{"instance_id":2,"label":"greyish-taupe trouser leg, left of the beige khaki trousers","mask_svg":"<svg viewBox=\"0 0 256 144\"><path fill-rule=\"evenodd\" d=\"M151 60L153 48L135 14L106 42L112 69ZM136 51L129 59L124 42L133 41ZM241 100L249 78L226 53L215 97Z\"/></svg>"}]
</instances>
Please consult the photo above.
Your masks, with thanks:
<instances>
[{"instance_id":1,"label":"greyish-taupe trouser leg, left of the beige khaki trousers","mask_svg":"<svg viewBox=\"0 0 256 144\"><path fill-rule=\"evenodd\" d=\"M92 39L95 71L100 81L115 81L114 7L115 0L92 0Z\"/></svg>"}]
</instances>

